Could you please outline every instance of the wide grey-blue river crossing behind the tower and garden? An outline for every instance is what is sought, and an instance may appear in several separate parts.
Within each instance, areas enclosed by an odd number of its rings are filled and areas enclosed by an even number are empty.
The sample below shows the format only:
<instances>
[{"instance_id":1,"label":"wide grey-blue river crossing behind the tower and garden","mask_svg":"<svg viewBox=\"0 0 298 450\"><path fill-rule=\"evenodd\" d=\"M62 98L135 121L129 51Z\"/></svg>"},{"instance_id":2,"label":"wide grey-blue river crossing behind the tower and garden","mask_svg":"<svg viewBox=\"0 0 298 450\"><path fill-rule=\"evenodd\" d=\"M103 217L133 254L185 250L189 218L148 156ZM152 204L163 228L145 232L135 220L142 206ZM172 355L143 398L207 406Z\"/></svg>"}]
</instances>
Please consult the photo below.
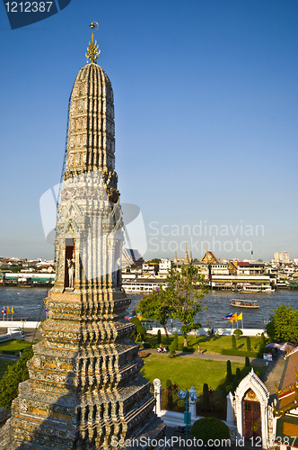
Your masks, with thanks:
<instances>
[{"instance_id":1,"label":"wide grey-blue river crossing behind the tower and garden","mask_svg":"<svg viewBox=\"0 0 298 450\"><path fill-rule=\"evenodd\" d=\"M43 303L48 290L46 288L21 288L11 286L0 287L0 309L3 306L10 308L13 306L13 319L26 318L27 320L41 320L46 317L45 305ZM127 309L127 315L136 308L137 303L142 298L141 294L129 294L131 305ZM231 299L257 300L259 310L249 310L233 308L230 306ZM272 293L232 293L231 291L211 291L202 301L202 306L207 306L207 311L202 311L197 315L203 327L229 328L232 324L228 320L223 320L230 312L243 312L243 326L248 329L262 329L264 323L270 319L272 311L279 305L285 303L292 308L298 305L298 290L277 290ZM7 318L7 316L6 316ZM10 319L11 316L8 317ZM174 320L174 326L179 326L179 322ZM0 324L1 326L1 324Z\"/></svg>"}]
</instances>

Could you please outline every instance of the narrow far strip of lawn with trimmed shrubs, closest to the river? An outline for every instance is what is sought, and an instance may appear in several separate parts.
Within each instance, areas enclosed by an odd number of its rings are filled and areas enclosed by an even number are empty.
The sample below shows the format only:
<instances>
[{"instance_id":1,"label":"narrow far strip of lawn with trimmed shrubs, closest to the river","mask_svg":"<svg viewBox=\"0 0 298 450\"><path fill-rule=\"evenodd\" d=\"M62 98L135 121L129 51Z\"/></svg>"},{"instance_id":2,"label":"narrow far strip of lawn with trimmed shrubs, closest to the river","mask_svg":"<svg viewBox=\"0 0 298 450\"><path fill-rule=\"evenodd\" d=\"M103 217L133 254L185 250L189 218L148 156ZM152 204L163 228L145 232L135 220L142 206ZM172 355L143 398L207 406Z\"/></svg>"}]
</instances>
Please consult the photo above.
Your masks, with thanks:
<instances>
[{"instance_id":1,"label":"narrow far strip of lawn with trimmed shrubs, closest to the river","mask_svg":"<svg viewBox=\"0 0 298 450\"><path fill-rule=\"evenodd\" d=\"M167 339L165 335L162 335L162 344L169 345L173 338ZM146 335L146 342L151 344L157 344L157 337L154 335ZM183 343L183 337L178 337L179 344ZM257 336L250 337L251 351L259 350L260 338ZM201 351L209 354L222 354L223 348L232 348L231 336L220 336L218 338L209 338L208 336L188 336L188 347L193 347L194 351L197 351L197 345L201 347ZM236 338L236 346L238 350L246 352L246 337ZM244 355L245 356L245 355Z\"/></svg>"}]
</instances>

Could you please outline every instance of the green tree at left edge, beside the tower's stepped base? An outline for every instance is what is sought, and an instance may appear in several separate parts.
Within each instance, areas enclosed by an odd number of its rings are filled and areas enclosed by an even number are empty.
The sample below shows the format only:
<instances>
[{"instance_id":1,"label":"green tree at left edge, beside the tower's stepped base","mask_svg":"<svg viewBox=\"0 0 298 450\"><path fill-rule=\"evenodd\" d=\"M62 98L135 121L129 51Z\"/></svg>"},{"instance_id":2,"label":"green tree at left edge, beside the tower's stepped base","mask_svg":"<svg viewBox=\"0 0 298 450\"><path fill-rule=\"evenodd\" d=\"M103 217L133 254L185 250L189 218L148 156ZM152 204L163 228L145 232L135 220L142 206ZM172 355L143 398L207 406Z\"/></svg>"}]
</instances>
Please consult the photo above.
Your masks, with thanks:
<instances>
[{"instance_id":1,"label":"green tree at left edge, beside the tower's stepped base","mask_svg":"<svg viewBox=\"0 0 298 450\"><path fill-rule=\"evenodd\" d=\"M32 347L27 347L22 352L20 359L7 368L2 380L0 381L0 408L11 407L12 401L18 395L19 383L29 379L27 361L33 356Z\"/></svg>"}]
</instances>

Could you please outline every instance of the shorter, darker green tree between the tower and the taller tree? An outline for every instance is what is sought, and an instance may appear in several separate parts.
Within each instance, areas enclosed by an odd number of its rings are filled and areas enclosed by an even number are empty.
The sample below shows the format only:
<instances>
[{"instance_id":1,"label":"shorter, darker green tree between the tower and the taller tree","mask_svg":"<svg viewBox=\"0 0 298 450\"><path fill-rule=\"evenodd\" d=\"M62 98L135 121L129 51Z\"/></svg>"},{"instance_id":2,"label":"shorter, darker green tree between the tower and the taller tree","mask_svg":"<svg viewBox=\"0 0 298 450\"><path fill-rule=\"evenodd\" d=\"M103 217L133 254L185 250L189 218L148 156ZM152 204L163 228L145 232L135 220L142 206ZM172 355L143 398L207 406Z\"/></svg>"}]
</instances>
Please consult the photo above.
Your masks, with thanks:
<instances>
[{"instance_id":1,"label":"shorter, darker green tree between the tower and the taller tree","mask_svg":"<svg viewBox=\"0 0 298 450\"><path fill-rule=\"evenodd\" d=\"M137 312L140 312L145 319L157 320L162 325L164 332L169 338L166 323L171 317L170 289L159 287L157 291L145 295L137 305Z\"/></svg>"}]
</instances>

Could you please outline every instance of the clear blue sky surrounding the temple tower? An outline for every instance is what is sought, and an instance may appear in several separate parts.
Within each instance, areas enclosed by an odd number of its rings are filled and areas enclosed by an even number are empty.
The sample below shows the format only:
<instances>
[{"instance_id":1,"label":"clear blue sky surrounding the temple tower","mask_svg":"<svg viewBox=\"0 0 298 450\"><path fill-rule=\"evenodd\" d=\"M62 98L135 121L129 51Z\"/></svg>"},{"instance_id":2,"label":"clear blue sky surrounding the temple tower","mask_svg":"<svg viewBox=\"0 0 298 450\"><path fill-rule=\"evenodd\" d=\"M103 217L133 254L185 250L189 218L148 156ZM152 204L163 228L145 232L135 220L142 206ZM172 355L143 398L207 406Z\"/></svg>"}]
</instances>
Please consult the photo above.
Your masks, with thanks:
<instances>
[{"instance_id":1,"label":"clear blue sky surrounding the temple tower","mask_svg":"<svg viewBox=\"0 0 298 450\"><path fill-rule=\"evenodd\" d=\"M194 257L213 238L217 257L259 258L260 244L263 259L298 257L296 0L72 0L14 31L1 8L0 256L53 257L39 197L60 178L68 97L97 21L121 201L141 208L145 257L191 238Z\"/></svg>"}]
</instances>

